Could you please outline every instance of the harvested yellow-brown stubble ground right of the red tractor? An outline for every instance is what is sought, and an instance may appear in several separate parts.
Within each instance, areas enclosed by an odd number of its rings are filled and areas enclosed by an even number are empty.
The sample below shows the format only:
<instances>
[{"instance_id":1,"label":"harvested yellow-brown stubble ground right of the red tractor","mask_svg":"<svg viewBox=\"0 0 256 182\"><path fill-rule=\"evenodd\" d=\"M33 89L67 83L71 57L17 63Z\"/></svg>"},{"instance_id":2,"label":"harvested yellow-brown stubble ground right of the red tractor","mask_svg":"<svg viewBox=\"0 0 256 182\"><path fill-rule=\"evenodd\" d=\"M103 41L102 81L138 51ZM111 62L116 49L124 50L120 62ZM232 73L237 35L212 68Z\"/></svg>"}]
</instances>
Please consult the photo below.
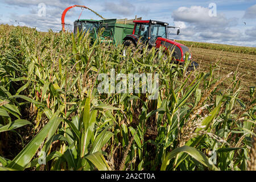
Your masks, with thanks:
<instances>
[{"instance_id":1,"label":"harvested yellow-brown stubble ground right of the red tractor","mask_svg":"<svg viewBox=\"0 0 256 182\"><path fill-rule=\"evenodd\" d=\"M256 86L256 55L246 53L234 53L192 47L193 60L199 63L199 70L208 71L210 65L218 63L216 74L225 76L232 71L240 74L241 85L243 86L242 95L245 101L249 101L251 86ZM230 82L225 81L224 87L229 86Z\"/></svg>"}]
</instances>

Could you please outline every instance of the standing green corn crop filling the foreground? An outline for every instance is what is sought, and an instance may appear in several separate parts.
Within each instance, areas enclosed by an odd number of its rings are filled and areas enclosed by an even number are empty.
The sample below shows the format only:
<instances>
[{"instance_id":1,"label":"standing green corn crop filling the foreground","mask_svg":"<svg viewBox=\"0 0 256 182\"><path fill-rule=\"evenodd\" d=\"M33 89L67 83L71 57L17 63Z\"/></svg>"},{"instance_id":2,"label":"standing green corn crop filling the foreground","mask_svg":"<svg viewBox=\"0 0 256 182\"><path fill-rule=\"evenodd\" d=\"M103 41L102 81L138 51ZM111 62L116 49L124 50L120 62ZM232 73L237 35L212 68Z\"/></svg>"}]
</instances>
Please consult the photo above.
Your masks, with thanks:
<instances>
[{"instance_id":1,"label":"standing green corn crop filling the foreground","mask_svg":"<svg viewBox=\"0 0 256 182\"><path fill-rule=\"evenodd\" d=\"M162 49L0 26L0 169L255 170L255 87L188 72ZM100 73L158 73L148 94L99 94ZM224 82L229 86L220 89Z\"/></svg>"}]
</instances>

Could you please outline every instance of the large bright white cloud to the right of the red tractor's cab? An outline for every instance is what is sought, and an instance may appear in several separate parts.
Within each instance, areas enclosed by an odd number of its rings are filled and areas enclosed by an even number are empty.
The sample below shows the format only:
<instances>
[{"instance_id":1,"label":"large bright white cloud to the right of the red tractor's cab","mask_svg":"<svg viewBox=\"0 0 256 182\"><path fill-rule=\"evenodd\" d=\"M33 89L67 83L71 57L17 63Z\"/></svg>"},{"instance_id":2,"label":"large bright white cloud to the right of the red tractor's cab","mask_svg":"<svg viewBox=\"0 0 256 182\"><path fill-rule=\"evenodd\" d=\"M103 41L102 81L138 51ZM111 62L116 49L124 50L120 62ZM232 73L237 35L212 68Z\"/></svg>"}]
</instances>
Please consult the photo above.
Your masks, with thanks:
<instances>
[{"instance_id":1,"label":"large bright white cloud to the right of the red tractor's cab","mask_svg":"<svg viewBox=\"0 0 256 182\"><path fill-rule=\"evenodd\" d=\"M245 33L245 28L237 27L237 18L226 18L225 14L221 13L217 13L216 17L210 17L208 7L179 7L173 11L172 18L175 25L183 26L180 36L176 39L233 43L238 46L247 42L250 46L256 46L256 43L251 43L256 39L255 28L249 29Z\"/></svg>"}]
</instances>

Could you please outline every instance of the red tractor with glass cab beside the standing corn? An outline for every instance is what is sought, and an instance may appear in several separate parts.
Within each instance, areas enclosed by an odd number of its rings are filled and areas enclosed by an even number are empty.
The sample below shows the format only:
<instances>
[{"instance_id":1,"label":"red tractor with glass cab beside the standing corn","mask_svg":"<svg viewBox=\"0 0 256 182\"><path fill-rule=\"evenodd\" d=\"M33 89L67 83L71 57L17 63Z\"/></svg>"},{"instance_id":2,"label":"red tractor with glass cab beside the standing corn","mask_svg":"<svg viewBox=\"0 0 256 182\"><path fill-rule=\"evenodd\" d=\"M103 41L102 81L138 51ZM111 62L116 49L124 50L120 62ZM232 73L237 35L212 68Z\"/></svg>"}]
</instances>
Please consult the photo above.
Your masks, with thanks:
<instances>
[{"instance_id":1,"label":"red tractor with glass cab beside the standing corn","mask_svg":"<svg viewBox=\"0 0 256 182\"><path fill-rule=\"evenodd\" d=\"M166 50L174 49L172 57L175 61L184 62L185 53L189 52L189 48L183 44L175 42L173 39L168 39L168 28L178 28L177 35L180 33L179 27L170 27L168 23L159 22L155 20L134 20L134 29L132 35L125 37L124 46L137 47L138 43L148 44L149 48L159 48L163 46ZM192 59L189 53L188 60ZM198 67L196 62L192 62L191 67Z\"/></svg>"}]
</instances>

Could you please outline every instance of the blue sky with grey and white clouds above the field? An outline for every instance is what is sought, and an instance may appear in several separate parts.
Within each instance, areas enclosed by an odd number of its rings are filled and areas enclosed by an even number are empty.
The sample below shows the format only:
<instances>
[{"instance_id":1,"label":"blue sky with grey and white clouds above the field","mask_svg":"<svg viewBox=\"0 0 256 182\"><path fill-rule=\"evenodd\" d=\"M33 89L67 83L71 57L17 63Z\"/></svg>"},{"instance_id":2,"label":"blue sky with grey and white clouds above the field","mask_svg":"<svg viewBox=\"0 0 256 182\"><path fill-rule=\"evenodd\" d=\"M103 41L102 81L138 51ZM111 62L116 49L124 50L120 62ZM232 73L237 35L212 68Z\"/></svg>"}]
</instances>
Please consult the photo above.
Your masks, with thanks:
<instances>
[{"instance_id":1,"label":"blue sky with grey and white clouds above the field","mask_svg":"<svg viewBox=\"0 0 256 182\"><path fill-rule=\"evenodd\" d=\"M256 0L0 0L0 24L60 31L61 14L72 5L88 6L106 19L137 15L181 27L173 39L256 47ZM75 7L65 17L68 29L80 14L80 19L100 19Z\"/></svg>"}]
</instances>

